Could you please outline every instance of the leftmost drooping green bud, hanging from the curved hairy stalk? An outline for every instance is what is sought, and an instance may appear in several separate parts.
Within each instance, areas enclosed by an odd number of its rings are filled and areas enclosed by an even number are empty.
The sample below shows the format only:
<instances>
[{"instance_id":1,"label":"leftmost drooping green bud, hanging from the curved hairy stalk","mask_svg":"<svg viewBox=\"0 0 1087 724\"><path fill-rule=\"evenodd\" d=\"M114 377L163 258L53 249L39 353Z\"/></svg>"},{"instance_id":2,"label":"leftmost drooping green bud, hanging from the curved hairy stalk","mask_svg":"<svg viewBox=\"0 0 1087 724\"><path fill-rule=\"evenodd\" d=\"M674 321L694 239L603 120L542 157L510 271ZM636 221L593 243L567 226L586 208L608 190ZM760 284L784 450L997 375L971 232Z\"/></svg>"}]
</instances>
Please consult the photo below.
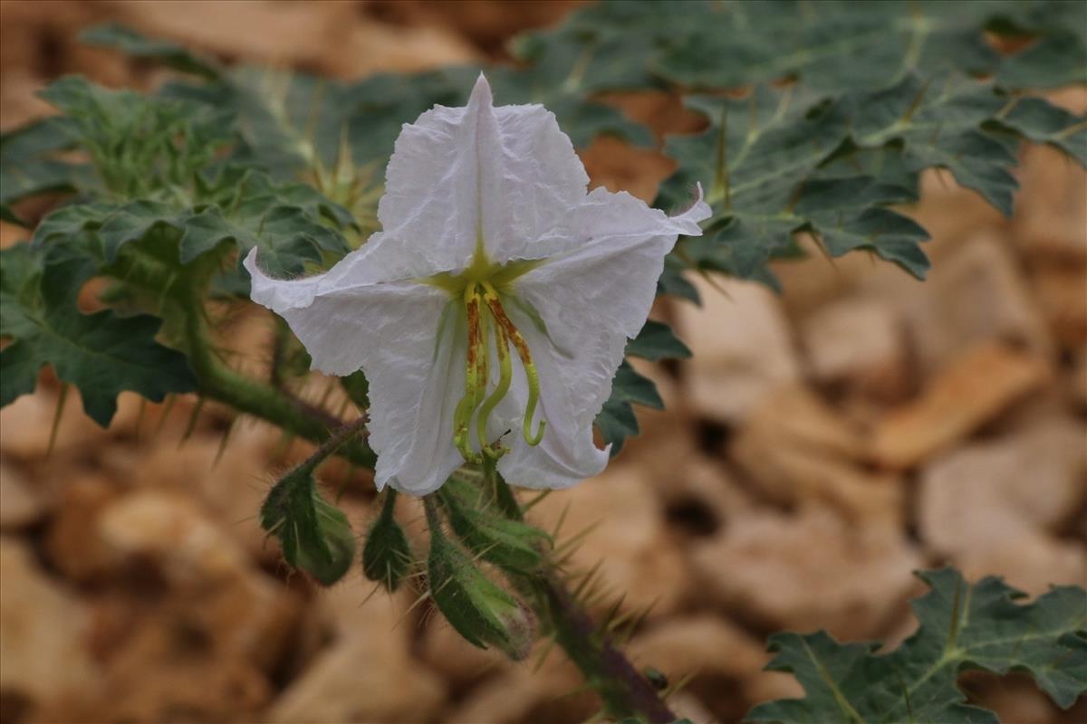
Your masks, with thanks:
<instances>
[{"instance_id":1,"label":"leftmost drooping green bud, hanging from the curved hairy stalk","mask_svg":"<svg viewBox=\"0 0 1087 724\"><path fill-rule=\"evenodd\" d=\"M351 568L355 539L347 517L317 491L312 466L279 479L261 506L261 528L279 539L284 559L330 586Z\"/></svg>"}]
</instances>

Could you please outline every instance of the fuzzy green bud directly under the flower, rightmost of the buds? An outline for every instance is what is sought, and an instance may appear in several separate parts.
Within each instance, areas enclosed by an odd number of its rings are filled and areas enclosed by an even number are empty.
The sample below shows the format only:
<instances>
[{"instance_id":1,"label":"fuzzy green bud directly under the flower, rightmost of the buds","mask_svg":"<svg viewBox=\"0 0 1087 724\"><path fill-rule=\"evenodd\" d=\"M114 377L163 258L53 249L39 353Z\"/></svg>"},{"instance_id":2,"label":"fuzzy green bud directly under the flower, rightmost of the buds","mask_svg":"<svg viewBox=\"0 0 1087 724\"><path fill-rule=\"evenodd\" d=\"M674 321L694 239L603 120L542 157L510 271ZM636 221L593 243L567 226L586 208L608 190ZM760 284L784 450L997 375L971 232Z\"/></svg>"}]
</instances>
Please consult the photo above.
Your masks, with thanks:
<instances>
[{"instance_id":1,"label":"fuzzy green bud directly under the flower, rightmost of the buds","mask_svg":"<svg viewBox=\"0 0 1087 724\"><path fill-rule=\"evenodd\" d=\"M501 569L517 573L538 570L551 536L527 523L510 520L485 499L483 491L450 478L438 491L458 537L474 554Z\"/></svg>"}]
</instances>

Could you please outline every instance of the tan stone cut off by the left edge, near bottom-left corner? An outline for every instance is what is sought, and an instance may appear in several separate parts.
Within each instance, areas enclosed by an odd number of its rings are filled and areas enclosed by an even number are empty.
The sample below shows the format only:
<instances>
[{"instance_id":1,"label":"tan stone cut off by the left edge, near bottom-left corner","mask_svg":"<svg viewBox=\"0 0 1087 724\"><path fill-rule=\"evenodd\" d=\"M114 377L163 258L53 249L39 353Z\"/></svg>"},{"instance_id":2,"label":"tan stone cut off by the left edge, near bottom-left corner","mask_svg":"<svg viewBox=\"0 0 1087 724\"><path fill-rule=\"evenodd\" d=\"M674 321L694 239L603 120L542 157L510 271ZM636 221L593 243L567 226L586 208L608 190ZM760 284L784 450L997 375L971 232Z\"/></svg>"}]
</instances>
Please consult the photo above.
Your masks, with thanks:
<instances>
[{"instance_id":1,"label":"tan stone cut off by the left edge, near bottom-left corner","mask_svg":"<svg viewBox=\"0 0 1087 724\"><path fill-rule=\"evenodd\" d=\"M92 689L89 614L22 543L0 537L0 689L32 704Z\"/></svg>"}]
</instances>

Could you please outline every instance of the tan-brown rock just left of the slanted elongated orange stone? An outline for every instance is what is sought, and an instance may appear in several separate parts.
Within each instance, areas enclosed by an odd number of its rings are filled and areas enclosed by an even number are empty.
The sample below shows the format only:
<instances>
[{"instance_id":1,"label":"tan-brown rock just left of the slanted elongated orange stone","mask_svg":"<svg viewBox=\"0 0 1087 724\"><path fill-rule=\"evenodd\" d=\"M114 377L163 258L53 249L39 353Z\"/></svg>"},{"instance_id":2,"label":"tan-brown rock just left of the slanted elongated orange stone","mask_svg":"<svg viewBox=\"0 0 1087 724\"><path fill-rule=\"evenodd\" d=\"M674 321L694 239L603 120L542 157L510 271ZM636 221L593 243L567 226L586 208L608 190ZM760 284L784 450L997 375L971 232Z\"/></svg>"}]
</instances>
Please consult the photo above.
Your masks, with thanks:
<instances>
[{"instance_id":1,"label":"tan-brown rock just left of the slanted elongated orange stone","mask_svg":"<svg viewBox=\"0 0 1087 724\"><path fill-rule=\"evenodd\" d=\"M899 482L859 467L862 437L808 390L791 388L764 401L728 450L759 490L776 503L817 500L850 520L890 524L901 520Z\"/></svg>"}]
</instances>

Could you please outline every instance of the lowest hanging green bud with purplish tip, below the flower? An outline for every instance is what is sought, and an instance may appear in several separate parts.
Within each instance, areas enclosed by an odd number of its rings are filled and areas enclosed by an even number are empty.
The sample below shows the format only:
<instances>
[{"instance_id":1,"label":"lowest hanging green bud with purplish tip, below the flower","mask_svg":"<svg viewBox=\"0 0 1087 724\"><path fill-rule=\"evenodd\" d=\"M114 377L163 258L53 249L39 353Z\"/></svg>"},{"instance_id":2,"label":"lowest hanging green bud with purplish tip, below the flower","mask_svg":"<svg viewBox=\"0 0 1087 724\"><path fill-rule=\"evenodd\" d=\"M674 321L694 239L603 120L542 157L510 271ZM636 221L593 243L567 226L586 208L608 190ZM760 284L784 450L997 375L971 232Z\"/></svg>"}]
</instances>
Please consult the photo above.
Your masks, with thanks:
<instances>
[{"instance_id":1,"label":"lowest hanging green bud with purplish tip, below the flower","mask_svg":"<svg viewBox=\"0 0 1087 724\"><path fill-rule=\"evenodd\" d=\"M527 657L536 633L528 608L491 582L463 548L446 537L436 513L428 520L427 577L438 610L473 646L493 646L514 661Z\"/></svg>"}]
</instances>

